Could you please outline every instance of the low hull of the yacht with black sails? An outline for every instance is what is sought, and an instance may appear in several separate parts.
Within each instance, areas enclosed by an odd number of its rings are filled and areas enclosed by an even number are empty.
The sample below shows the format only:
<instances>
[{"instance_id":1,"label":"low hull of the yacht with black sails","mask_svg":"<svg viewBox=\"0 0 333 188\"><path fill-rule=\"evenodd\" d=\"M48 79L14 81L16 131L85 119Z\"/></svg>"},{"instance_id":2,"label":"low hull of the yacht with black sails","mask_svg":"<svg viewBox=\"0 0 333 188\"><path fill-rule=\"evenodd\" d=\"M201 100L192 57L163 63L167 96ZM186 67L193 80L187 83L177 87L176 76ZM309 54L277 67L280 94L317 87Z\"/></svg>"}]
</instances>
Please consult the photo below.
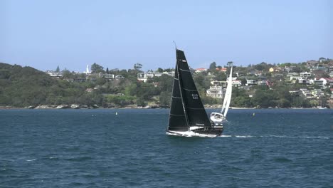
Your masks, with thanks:
<instances>
[{"instance_id":1,"label":"low hull of the yacht with black sails","mask_svg":"<svg viewBox=\"0 0 333 188\"><path fill-rule=\"evenodd\" d=\"M222 132L223 132L223 127L218 126L209 130L204 130L203 128L197 130L186 130L186 131L168 130L166 131L166 135L182 136L182 137L218 137L222 134Z\"/></svg>"}]
</instances>

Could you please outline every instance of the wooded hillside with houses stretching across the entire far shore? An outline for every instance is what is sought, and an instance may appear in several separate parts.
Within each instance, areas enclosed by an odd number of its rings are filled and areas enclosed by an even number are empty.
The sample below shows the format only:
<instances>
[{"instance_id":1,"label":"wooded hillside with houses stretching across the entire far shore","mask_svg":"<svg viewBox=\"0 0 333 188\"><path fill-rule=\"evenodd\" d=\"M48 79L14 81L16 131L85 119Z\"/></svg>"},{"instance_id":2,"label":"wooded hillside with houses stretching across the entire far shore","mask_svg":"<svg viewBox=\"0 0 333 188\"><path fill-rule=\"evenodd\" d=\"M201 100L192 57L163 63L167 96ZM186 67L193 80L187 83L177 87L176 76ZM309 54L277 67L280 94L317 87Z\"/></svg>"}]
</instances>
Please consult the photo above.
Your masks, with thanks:
<instances>
[{"instance_id":1,"label":"wooded hillside with houses stretching across the entire far shore","mask_svg":"<svg viewBox=\"0 0 333 188\"><path fill-rule=\"evenodd\" d=\"M94 63L92 73L88 74L68 70L43 73L31 67L0 63L0 107L53 105L51 108L56 108L64 105L68 108L73 104L81 108L168 106L174 70L158 68L144 73L141 68L142 65L137 63L134 69L109 71L106 68L105 71ZM226 67L216 66L215 62L209 69L193 70L194 82L204 105L221 105L221 98L213 98L207 93L212 85L225 82L228 71ZM233 107L332 107L333 79L329 76L333 74L333 61L330 59L277 66L264 62L248 67L234 66L233 73ZM221 89L213 91L220 92Z\"/></svg>"}]
</instances>

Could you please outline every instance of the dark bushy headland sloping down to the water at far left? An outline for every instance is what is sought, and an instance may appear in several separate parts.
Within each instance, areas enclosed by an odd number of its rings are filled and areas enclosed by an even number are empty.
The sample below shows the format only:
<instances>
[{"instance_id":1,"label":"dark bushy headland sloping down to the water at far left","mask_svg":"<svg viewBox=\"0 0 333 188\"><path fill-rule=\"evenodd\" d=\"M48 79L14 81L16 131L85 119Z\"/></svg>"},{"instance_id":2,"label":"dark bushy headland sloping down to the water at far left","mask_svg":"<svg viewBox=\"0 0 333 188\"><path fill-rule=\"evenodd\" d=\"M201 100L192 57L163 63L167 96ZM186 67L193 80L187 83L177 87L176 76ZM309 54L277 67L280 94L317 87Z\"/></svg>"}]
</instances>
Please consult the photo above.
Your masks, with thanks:
<instances>
[{"instance_id":1,"label":"dark bushy headland sloping down to the water at far left","mask_svg":"<svg viewBox=\"0 0 333 188\"><path fill-rule=\"evenodd\" d=\"M31 67L0 63L0 105L26 107L29 105L59 105L86 103L85 88L64 80L55 80Z\"/></svg>"}]
</instances>

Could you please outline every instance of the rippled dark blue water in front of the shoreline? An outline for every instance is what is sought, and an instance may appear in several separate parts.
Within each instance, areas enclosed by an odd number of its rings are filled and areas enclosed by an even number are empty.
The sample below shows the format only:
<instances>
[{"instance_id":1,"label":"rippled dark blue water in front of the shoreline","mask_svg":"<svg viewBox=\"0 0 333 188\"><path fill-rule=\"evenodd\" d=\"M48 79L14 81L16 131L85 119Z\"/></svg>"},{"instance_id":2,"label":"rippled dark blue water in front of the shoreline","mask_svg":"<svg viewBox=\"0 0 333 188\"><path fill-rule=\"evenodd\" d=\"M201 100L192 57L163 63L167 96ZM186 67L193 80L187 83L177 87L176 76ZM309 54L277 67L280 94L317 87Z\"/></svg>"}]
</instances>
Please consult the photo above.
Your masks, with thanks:
<instances>
[{"instance_id":1,"label":"rippled dark blue water in front of the shoreline","mask_svg":"<svg viewBox=\"0 0 333 188\"><path fill-rule=\"evenodd\" d=\"M0 187L333 187L333 110L229 112L201 138L167 109L0 110Z\"/></svg>"}]
</instances>

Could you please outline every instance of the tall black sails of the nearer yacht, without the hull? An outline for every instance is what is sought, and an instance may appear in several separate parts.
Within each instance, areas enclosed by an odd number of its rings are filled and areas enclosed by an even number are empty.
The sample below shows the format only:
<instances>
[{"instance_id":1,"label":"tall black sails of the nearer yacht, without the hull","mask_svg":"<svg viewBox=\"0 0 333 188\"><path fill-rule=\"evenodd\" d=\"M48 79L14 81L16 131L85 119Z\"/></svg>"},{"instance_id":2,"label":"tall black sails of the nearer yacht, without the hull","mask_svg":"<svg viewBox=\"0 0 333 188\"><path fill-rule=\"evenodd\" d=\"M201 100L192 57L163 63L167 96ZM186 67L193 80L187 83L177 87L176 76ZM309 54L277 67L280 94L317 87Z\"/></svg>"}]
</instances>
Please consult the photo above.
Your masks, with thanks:
<instances>
[{"instance_id":1,"label":"tall black sails of the nearer yacht, without the hull","mask_svg":"<svg viewBox=\"0 0 333 188\"><path fill-rule=\"evenodd\" d=\"M211 127L183 51L176 50L176 60L168 129L184 131L191 126Z\"/></svg>"}]
</instances>

